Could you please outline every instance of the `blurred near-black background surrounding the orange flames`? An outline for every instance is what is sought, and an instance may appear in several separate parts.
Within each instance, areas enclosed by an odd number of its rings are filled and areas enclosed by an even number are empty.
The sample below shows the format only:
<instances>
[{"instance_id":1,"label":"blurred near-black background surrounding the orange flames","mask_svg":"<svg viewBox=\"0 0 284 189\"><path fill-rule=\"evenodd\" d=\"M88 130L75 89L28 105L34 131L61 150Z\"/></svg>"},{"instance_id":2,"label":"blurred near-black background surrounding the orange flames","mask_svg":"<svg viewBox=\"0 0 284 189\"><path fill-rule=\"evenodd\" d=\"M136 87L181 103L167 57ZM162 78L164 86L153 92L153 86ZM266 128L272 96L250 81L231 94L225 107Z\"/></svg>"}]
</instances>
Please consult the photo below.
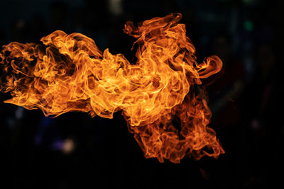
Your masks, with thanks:
<instances>
[{"instance_id":1,"label":"blurred near-black background surrounding the orange flames","mask_svg":"<svg viewBox=\"0 0 284 189\"><path fill-rule=\"evenodd\" d=\"M200 62L218 55L207 86L210 127L225 154L145 159L121 113L114 119L66 113L45 118L0 93L0 188L283 188L283 1L1 1L0 45L40 42L54 30L79 32L131 61L138 23L182 13ZM208 84L209 81L204 81Z\"/></svg>"}]
</instances>

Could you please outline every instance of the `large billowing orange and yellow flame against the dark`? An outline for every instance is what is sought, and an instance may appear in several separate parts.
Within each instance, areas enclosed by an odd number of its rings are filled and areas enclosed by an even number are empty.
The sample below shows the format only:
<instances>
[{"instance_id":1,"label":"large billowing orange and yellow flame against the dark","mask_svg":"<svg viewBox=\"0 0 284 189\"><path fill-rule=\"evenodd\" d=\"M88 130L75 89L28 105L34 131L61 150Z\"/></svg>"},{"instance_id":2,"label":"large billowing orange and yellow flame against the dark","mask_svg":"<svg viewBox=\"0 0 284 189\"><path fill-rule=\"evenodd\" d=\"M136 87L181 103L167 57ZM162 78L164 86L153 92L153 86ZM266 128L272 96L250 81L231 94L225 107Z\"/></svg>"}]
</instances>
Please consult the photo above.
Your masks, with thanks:
<instances>
[{"instance_id":1,"label":"large billowing orange and yellow flame against the dark","mask_svg":"<svg viewBox=\"0 0 284 189\"><path fill-rule=\"evenodd\" d=\"M58 116L81 111L113 118L122 114L146 158L180 162L224 153L207 127L211 112L200 79L217 73L222 61L207 57L197 64L180 13L126 22L124 33L137 38L137 62L102 52L80 33L57 30L43 45L11 42L0 52L1 91L5 103Z\"/></svg>"}]
</instances>

